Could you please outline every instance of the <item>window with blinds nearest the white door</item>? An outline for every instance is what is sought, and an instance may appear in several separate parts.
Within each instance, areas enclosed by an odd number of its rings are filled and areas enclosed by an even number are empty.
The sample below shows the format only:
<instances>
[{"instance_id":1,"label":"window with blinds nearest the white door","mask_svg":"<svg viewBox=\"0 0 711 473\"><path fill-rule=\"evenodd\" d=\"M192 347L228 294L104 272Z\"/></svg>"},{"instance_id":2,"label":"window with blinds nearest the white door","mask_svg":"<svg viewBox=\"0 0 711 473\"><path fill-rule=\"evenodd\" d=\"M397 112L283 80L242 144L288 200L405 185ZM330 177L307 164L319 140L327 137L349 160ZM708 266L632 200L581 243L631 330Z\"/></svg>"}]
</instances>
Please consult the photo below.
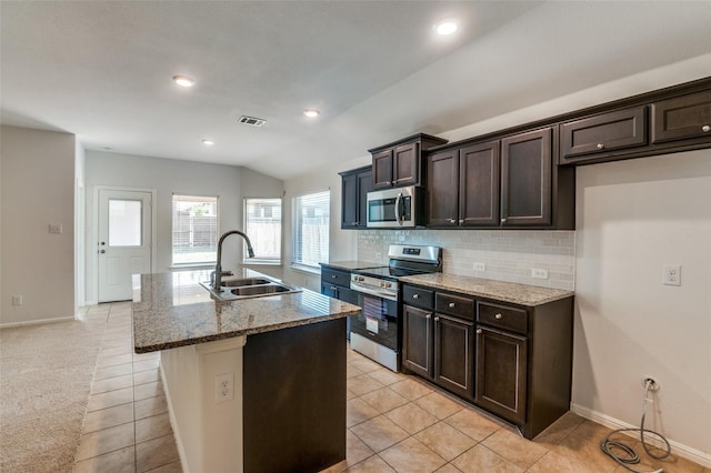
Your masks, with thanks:
<instances>
[{"instance_id":1,"label":"window with blinds nearest the white door","mask_svg":"<svg viewBox=\"0 0 711 473\"><path fill-rule=\"evenodd\" d=\"M173 194L173 264L214 263L218 198Z\"/></svg>"}]
</instances>

